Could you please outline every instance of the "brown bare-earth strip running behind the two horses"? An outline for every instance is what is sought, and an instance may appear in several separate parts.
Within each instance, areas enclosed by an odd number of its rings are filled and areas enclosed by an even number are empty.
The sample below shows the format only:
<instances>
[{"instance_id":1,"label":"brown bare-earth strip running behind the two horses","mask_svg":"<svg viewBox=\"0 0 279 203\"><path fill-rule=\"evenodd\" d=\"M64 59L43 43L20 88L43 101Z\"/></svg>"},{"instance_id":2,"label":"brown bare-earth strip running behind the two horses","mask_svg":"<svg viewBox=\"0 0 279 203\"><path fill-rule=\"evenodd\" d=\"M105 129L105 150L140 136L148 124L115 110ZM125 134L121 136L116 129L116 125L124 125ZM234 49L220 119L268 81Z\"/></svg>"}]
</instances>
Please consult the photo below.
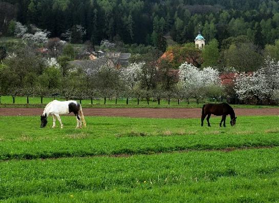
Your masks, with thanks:
<instances>
[{"instance_id":1,"label":"brown bare-earth strip running behind the two horses","mask_svg":"<svg viewBox=\"0 0 279 203\"><path fill-rule=\"evenodd\" d=\"M0 116L41 115L41 108L0 108ZM279 115L279 108L234 109L235 115ZM199 108L83 108L85 116L126 116L141 118L200 118Z\"/></svg>"}]
</instances>

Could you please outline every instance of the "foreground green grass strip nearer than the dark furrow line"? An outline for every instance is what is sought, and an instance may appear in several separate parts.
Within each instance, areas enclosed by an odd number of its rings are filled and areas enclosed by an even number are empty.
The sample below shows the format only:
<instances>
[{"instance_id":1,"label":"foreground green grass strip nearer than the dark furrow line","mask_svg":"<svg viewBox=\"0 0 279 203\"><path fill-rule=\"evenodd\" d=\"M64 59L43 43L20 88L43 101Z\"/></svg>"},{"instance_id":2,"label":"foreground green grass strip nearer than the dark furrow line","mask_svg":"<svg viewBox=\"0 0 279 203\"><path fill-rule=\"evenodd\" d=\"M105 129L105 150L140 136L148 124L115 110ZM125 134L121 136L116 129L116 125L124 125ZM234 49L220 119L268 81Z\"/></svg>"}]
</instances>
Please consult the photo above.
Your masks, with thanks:
<instances>
[{"instance_id":1,"label":"foreground green grass strip nearer than the dark furrow line","mask_svg":"<svg viewBox=\"0 0 279 203\"><path fill-rule=\"evenodd\" d=\"M0 164L6 202L276 201L279 147Z\"/></svg>"}]
</instances>

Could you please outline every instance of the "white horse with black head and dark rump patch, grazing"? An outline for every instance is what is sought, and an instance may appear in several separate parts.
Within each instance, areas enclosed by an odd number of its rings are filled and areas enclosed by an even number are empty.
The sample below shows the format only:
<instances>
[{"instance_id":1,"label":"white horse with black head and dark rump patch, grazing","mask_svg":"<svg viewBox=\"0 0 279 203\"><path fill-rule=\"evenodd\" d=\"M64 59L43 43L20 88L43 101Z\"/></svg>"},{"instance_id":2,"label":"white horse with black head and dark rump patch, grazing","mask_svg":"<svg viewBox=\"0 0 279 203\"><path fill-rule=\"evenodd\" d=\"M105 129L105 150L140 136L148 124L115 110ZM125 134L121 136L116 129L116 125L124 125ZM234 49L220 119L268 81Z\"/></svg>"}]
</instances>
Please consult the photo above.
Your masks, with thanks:
<instances>
[{"instance_id":1,"label":"white horse with black head and dark rump patch, grazing","mask_svg":"<svg viewBox=\"0 0 279 203\"><path fill-rule=\"evenodd\" d=\"M84 126L86 126L86 122L84 120L84 116L83 116L83 112L82 112L82 108L80 106L79 103L77 103L76 101L65 101L65 102L59 102L57 100L53 100L52 102L50 102L49 104L47 104L44 113L42 113L42 115L40 116L40 120L41 120L41 128L45 128L45 126L47 125L47 118L49 115L53 116L53 125L52 128L55 128L55 121L56 118L58 119L58 121L60 122L60 126L61 129L63 128L63 124L61 122L60 119L60 115L65 115L65 114L69 114L73 112L76 116L76 120L77 120L77 126L76 128L81 128L81 120ZM78 115L78 113L80 113L80 116ZM81 120L80 120L81 119Z\"/></svg>"}]
</instances>

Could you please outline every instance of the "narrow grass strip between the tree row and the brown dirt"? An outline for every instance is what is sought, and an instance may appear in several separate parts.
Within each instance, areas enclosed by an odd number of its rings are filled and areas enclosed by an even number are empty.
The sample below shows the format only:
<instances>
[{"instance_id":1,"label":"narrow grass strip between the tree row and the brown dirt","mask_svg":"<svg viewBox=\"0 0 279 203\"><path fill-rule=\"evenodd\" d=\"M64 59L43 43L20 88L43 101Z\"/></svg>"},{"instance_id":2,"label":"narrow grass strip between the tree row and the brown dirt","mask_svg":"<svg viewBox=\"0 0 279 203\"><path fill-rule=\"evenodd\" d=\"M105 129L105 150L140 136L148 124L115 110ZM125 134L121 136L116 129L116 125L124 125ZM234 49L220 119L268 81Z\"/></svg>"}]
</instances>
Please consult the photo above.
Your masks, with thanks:
<instances>
[{"instance_id":1,"label":"narrow grass strip between the tree row and the brown dirt","mask_svg":"<svg viewBox=\"0 0 279 203\"><path fill-rule=\"evenodd\" d=\"M15 97L15 104L13 104L13 99L11 96L1 96L1 107L38 107L45 108L46 104L51 102L52 100L60 100L65 101L66 99L63 97L44 97L40 104L40 97L29 97L29 104L27 105L27 98L23 96ZM75 99L79 102L78 99ZM224 99L223 102L226 102ZM126 98L118 98L117 104L115 104L115 98L106 99L106 104L104 105L103 98L93 99L93 105L91 105L90 99L81 100L82 107L90 107L90 108L201 108L203 104L214 103L210 100L201 101L200 104L196 103L195 99L190 99L190 104L183 99L180 104L178 104L177 99L172 98L170 100L170 105L168 105L168 101L166 99L161 99L160 105L158 105L157 100L153 101L152 98L149 101L149 105L147 104L146 99L140 100L139 105L137 104L136 98L129 98L128 105L126 105ZM279 106L251 106L251 105L231 105L232 107L237 108L278 108Z\"/></svg>"}]
</instances>

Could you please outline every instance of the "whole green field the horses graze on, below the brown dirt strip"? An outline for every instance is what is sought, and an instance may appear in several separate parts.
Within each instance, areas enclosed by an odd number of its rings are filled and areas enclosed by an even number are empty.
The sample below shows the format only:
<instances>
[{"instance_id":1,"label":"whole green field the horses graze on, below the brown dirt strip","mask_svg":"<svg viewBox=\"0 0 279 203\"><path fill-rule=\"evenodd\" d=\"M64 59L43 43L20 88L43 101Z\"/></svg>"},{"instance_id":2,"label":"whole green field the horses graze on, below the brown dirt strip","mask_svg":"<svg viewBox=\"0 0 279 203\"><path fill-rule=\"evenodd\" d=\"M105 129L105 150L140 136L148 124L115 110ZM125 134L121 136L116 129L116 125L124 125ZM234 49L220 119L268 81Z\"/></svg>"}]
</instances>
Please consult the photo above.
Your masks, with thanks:
<instances>
[{"instance_id":1,"label":"whole green field the horses graze on, below the brown dirt strip","mask_svg":"<svg viewBox=\"0 0 279 203\"><path fill-rule=\"evenodd\" d=\"M61 119L0 116L0 201L279 201L277 116Z\"/></svg>"}]
</instances>

